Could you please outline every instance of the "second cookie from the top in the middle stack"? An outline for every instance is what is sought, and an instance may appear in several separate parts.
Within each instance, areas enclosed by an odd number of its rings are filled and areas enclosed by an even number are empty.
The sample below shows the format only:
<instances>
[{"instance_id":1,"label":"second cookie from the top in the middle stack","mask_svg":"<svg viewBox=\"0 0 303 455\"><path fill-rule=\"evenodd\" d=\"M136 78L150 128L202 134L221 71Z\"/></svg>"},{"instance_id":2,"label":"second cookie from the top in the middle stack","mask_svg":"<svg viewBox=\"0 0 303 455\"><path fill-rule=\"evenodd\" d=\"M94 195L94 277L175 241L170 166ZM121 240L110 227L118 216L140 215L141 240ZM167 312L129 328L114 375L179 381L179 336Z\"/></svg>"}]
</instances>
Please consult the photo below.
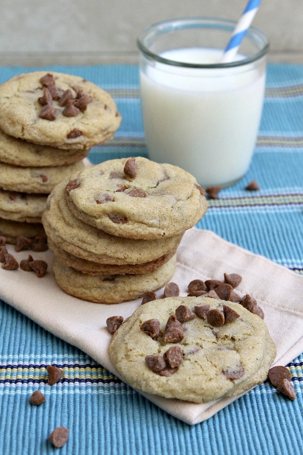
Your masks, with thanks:
<instances>
[{"instance_id":1,"label":"second cookie from the top in the middle stack","mask_svg":"<svg viewBox=\"0 0 303 455\"><path fill-rule=\"evenodd\" d=\"M127 266L158 260L177 249L183 233L154 241L132 240L111 236L80 221L66 204L65 186L66 182L53 190L42 215L47 237L57 247L88 261Z\"/></svg>"}]
</instances>

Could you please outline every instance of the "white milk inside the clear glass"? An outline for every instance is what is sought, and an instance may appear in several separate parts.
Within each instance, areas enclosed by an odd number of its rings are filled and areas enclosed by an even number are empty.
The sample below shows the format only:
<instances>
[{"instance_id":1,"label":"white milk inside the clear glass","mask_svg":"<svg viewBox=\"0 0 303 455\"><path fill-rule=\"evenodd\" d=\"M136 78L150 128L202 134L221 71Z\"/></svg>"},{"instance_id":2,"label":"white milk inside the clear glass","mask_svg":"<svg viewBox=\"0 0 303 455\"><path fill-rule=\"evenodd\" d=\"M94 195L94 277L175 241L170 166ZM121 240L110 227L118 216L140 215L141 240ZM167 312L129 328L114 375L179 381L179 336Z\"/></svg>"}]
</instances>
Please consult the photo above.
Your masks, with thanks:
<instances>
[{"instance_id":1,"label":"white milk inside the clear glass","mask_svg":"<svg viewBox=\"0 0 303 455\"><path fill-rule=\"evenodd\" d=\"M189 48L161 57L209 64L221 55ZM245 174L262 114L265 61L230 68L148 62L140 66L140 88L151 160L182 167L203 187L231 184Z\"/></svg>"}]
</instances>

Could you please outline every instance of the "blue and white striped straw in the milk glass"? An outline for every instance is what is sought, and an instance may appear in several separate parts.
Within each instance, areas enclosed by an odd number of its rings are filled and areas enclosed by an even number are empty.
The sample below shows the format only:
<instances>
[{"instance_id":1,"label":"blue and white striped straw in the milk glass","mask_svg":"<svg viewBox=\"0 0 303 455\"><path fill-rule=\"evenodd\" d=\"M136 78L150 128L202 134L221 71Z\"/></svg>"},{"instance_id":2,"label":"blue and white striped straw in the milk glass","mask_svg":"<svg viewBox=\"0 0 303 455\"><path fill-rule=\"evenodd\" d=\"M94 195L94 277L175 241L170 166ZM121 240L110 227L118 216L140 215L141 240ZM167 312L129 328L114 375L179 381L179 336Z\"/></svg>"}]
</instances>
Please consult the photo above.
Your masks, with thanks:
<instances>
[{"instance_id":1,"label":"blue and white striped straw in the milk glass","mask_svg":"<svg viewBox=\"0 0 303 455\"><path fill-rule=\"evenodd\" d=\"M242 16L238 20L237 25L231 35L229 43L227 44L222 60L222 63L232 62L236 56L239 45L241 44L242 39L244 38L252 20L254 19L261 0L248 0L245 10L243 11Z\"/></svg>"}]
</instances>

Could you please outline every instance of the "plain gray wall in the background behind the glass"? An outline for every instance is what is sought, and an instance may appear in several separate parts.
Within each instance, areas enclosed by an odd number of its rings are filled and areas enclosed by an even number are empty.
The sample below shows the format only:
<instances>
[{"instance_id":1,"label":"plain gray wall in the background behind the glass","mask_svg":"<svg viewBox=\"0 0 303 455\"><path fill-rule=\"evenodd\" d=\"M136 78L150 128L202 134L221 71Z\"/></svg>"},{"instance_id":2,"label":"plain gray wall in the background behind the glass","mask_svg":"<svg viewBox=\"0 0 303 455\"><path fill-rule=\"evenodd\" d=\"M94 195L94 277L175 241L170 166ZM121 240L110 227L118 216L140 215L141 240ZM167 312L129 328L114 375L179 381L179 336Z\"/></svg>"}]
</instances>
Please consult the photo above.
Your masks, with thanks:
<instances>
[{"instance_id":1,"label":"plain gray wall in the background behind the glass","mask_svg":"<svg viewBox=\"0 0 303 455\"><path fill-rule=\"evenodd\" d=\"M172 17L237 20L246 0L1 0L2 64L130 62L136 36ZM254 19L270 61L303 63L303 0L263 0Z\"/></svg>"}]
</instances>

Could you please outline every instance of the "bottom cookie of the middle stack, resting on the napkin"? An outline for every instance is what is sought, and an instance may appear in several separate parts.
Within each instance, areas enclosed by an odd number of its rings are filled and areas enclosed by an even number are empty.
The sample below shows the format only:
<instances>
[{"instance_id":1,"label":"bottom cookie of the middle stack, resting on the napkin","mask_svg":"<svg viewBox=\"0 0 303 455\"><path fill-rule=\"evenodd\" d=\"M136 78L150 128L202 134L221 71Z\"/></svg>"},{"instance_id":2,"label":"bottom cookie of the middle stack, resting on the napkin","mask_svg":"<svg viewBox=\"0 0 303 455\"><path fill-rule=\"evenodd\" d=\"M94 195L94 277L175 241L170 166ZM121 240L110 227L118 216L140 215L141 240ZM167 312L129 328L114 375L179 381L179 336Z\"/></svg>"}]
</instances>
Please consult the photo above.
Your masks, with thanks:
<instances>
[{"instance_id":1,"label":"bottom cookie of the middle stack, resting on the napkin","mask_svg":"<svg viewBox=\"0 0 303 455\"><path fill-rule=\"evenodd\" d=\"M144 275L87 275L66 267L55 257L53 269L60 288L67 294L95 303L121 303L162 288L174 275L176 256Z\"/></svg>"}]
</instances>

